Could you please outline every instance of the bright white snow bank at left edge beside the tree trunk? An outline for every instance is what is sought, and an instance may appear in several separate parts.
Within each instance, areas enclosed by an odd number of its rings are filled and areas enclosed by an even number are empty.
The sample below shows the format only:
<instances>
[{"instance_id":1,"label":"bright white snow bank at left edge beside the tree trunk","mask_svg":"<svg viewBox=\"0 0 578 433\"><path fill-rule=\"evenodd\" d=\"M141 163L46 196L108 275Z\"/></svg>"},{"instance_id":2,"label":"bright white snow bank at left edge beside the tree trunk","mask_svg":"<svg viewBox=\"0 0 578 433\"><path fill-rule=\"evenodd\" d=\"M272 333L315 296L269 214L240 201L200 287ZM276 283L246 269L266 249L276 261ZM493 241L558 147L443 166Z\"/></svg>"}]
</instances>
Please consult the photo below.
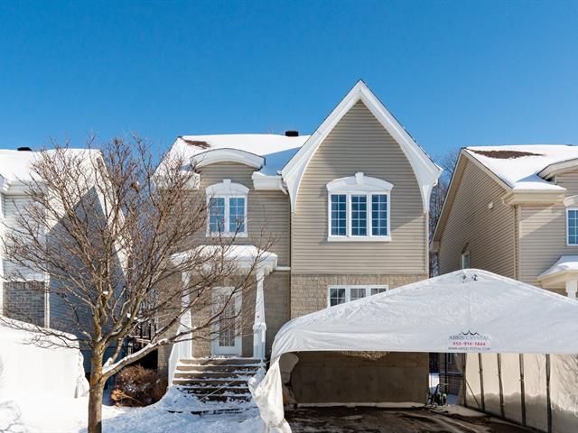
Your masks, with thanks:
<instances>
[{"instance_id":1,"label":"bright white snow bank at left edge beside the tree trunk","mask_svg":"<svg viewBox=\"0 0 578 433\"><path fill-rule=\"evenodd\" d=\"M14 329L8 324L30 330ZM70 334L62 335L74 338ZM78 347L50 347L49 344L41 347L34 344L37 336L32 326L0 317L0 401L17 394L44 394L55 399L74 398L87 392L89 384Z\"/></svg>"}]
</instances>

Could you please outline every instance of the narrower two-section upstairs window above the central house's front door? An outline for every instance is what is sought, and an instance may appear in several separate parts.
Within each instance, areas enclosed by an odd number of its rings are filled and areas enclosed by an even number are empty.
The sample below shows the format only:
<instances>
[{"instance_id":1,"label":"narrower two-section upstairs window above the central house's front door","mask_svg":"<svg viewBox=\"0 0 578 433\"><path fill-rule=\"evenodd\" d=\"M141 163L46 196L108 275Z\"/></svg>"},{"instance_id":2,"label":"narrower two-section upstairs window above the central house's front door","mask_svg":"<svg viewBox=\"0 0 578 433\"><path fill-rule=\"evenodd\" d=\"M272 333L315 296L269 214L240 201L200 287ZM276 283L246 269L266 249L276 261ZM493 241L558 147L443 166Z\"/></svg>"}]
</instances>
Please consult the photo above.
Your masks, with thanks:
<instances>
[{"instance_id":1,"label":"narrower two-section upstairs window above the central house's front door","mask_svg":"<svg viewBox=\"0 0 578 433\"><path fill-rule=\"evenodd\" d=\"M207 235L247 236L247 187L226 179L208 187L206 193Z\"/></svg>"}]
</instances>

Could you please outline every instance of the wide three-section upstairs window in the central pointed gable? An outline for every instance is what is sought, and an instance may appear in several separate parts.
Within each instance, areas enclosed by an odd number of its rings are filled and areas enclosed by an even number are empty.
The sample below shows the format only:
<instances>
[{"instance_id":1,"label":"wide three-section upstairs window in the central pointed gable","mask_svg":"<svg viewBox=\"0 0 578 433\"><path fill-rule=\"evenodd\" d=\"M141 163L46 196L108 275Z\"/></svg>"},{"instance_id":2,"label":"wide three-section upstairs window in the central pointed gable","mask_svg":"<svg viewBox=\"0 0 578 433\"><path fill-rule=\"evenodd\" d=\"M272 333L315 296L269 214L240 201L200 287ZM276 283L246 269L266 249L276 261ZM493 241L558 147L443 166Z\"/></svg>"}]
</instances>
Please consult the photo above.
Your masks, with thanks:
<instances>
[{"instance_id":1,"label":"wide three-section upstairs window in the central pointed gable","mask_svg":"<svg viewBox=\"0 0 578 433\"><path fill-rule=\"evenodd\" d=\"M328 240L390 241L392 188L363 173L328 183Z\"/></svg>"}]
</instances>

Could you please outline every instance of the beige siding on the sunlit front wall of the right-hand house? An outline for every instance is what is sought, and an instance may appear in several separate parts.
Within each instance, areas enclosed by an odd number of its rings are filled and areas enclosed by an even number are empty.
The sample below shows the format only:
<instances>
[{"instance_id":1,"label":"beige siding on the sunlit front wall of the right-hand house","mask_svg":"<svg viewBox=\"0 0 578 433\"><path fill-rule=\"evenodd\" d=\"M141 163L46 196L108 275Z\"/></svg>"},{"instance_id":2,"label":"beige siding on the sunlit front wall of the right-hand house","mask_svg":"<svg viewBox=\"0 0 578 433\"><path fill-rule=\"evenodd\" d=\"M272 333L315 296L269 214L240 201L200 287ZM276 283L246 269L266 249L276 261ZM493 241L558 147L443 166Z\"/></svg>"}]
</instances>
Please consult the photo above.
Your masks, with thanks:
<instances>
[{"instance_id":1,"label":"beige siding on the sunlit front wall of the right-hand house","mask_svg":"<svg viewBox=\"0 0 578 433\"><path fill-rule=\"evenodd\" d=\"M567 189L565 197L578 194L578 172L556 177L556 183ZM520 280L540 284L536 277L550 268L562 255L578 255L578 246L566 246L566 207L520 207ZM555 288L565 295L564 285Z\"/></svg>"}]
</instances>

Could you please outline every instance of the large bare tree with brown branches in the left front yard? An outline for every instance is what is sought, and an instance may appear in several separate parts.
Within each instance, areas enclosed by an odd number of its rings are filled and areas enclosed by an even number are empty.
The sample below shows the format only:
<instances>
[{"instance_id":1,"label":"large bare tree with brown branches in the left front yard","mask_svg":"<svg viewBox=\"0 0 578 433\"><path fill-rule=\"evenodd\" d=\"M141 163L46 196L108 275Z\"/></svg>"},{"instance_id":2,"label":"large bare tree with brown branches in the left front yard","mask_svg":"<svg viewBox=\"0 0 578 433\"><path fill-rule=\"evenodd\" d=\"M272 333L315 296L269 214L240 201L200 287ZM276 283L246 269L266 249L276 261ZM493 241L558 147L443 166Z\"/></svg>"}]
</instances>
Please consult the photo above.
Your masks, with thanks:
<instances>
[{"instance_id":1,"label":"large bare tree with brown branches in the left front yard","mask_svg":"<svg viewBox=\"0 0 578 433\"><path fill-rule=\"evenodd\" d=\"M92 141L83 151L55 144L33 161L28 204L5 234L5 254L14 264L6 278L48 277L61 311L51 323L78 336L91 354L89 433L102 429L108 378L160 346L207 338L215 324L231 322L230 302L253 286L261 253L272 242L264 244L261 234L248 269L230 257L235 236L211 237L207 245L207 199L194 190L198 175L183 169L188 164L167 157L155 171L137 137L98 150ZM175 253L179 260L172 260ZM223 281L233 287L227 299L211 305L194 329L175 331L188 311L207 310L210 289ZM126 355L126 339L150 323L156 333ZM36 332L41 342L77 344L51 329Z\"/></svg>"}]
</instances>

